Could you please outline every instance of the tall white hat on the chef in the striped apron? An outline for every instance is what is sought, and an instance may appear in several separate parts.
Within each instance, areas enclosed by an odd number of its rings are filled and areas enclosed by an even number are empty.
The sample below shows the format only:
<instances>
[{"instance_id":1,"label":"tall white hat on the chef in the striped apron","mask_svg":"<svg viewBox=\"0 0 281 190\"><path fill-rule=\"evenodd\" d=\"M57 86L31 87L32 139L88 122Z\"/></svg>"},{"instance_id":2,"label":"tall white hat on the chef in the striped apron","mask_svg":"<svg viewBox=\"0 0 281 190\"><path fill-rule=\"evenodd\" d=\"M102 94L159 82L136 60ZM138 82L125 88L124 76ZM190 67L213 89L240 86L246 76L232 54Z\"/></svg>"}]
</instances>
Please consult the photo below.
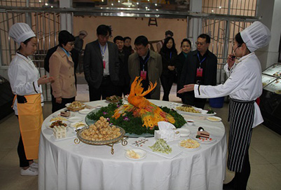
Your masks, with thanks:
<instances>
[{"instance_id":1,"label":"tall white hat on the chef in the striped apron","mask_svg":"<svg viewBox=\"0 0 281 190\"><path fill-rule=\"evenodd\" d=\"M251 52L267 46L271 38L268 27L259 21L253 22L252 25L249 25L240 34Z\"/></svg>"}]
</instances>

